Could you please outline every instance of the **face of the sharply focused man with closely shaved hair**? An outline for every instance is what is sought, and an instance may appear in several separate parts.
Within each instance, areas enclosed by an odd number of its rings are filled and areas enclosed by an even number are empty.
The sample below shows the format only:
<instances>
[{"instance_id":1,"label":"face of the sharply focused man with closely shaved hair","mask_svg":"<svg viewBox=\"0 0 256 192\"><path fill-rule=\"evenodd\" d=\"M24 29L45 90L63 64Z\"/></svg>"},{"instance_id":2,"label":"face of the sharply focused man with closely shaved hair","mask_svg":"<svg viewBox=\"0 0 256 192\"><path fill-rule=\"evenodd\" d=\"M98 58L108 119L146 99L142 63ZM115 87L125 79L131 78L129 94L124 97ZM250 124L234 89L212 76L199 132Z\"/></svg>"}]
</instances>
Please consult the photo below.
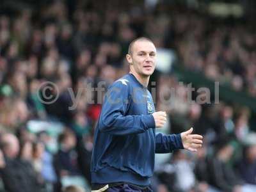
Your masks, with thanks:
<instances>
[{"instance_id":1,"label":"face of the sharply focused man with closely shaved hair","mask_svg":"<svg viewBox=\"0 0 256 192\"><path fill-rule=\"evenodd\" d=\"M156 47L147 40L137 41L132 46L132 54L127 61L140 76L151 76L156 67Z\"/></svg>"}]
</instances>

